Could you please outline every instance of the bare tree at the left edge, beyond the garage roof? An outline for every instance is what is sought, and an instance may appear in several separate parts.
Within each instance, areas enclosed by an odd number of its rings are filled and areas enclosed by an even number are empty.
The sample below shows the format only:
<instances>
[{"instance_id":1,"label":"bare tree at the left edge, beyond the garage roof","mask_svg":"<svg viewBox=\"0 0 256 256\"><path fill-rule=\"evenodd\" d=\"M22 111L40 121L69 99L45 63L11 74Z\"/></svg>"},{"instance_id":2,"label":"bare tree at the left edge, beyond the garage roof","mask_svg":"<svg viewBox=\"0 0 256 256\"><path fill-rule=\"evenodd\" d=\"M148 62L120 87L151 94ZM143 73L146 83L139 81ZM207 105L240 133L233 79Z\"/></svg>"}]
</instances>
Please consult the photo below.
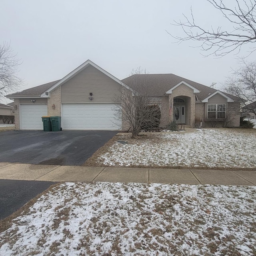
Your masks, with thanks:
<instances>
[{"instance_id":1,"label":"bare tree at the left edge, beyond the garage roof","mask_svg":"<svg viewBox=\"0 0 256 256\"><path fill-rule=\"evenodd\" d=\"M0 45L0 98L20 88L22 80L17 76L20 64L10 43Z\"/></svg>"}]
</instances>

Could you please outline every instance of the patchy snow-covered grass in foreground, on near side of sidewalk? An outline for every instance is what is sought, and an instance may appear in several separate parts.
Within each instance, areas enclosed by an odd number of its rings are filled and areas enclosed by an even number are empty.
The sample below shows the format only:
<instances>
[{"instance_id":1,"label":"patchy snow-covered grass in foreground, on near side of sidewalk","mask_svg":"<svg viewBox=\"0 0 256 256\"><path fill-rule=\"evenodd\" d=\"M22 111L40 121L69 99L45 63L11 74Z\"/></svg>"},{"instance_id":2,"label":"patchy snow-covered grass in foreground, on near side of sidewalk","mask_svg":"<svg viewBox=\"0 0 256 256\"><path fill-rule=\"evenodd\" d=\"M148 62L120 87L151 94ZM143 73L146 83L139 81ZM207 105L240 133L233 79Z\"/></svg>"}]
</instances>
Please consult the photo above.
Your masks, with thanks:
<instances>
[{"instance_id":1,"label":"patchy snow-covered grass in foreground, on near side of sidewalk","mask_svg":"<svg viewBox=\"0 0 256 256\"><path fill-rule=\"evenodd\" d=\"M256 187L64 183L0 233L0 255L255 255Z\"/></svg>"}]
</instances>

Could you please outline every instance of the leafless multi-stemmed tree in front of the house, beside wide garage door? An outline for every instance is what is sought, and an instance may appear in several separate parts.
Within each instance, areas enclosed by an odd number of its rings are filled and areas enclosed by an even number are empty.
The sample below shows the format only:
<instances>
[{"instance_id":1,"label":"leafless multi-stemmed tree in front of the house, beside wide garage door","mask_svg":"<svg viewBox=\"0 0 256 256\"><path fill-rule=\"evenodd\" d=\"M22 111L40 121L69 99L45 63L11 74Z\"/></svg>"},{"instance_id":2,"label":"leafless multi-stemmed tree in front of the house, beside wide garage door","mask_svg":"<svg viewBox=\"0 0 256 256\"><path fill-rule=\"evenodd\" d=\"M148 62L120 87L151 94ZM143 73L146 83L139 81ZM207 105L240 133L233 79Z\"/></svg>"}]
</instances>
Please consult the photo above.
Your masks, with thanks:
<instances>
[{"instance_id":1,"label":"leafless multi-stemmed tree in front of the house, beside wide garage door","mask_svg":"<svg viewBox=\"0 0 256 256\"><path fill-rule=\"evenodd\" d=\"M132 70L129 88L120 88L113 99L116 119L121 119L124 126L131 129L132 138L137 137L142 129L150 130L160 124L160 108L143 74L147 74L146 70L140 67Z\"/></svg>"}]
</instances>

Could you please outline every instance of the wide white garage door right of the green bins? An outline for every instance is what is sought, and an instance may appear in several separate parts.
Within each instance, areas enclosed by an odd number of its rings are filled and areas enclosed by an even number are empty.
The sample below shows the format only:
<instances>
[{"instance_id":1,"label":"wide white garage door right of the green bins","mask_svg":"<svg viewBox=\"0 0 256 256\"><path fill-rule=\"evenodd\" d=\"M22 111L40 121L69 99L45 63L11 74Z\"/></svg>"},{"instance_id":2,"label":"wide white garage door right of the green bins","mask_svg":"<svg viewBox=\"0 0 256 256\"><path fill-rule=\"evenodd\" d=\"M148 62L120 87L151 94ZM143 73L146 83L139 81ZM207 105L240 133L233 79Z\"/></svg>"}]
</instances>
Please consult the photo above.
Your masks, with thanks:
<instances>
[{"instance_id":1,"label":"wide white garage door right of the green bins","mask_svg":"<svg viewBox=\"0 0 256 256\"><path fill-rule=\"evenodd\" d=\"M113 106L111 103L62 104L62 129L119 130L121 122L115 124Z\"/></svg>"}]
</instances>

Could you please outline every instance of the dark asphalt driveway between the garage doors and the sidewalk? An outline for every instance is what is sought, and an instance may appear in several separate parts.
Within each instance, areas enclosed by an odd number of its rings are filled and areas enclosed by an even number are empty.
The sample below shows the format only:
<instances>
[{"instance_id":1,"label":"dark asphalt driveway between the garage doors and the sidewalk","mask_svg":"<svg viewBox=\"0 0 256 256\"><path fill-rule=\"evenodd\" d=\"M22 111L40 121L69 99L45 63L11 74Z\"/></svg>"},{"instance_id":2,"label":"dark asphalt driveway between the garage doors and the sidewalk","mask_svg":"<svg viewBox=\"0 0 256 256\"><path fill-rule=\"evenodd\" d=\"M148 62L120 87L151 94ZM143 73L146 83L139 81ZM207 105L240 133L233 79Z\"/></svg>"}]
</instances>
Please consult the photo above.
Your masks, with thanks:
<instances>
[{"instance_id":1,"label":"dark asphalt driveway between the garage doors and the sidewalk","mask_svg":"<svg viewBox=\"0 0 256 256\"><path fill-rule=\"evenodd\" d=\"M0 162L82 165L118 131L0 132Z\"/></svg>"}]
</instances>

